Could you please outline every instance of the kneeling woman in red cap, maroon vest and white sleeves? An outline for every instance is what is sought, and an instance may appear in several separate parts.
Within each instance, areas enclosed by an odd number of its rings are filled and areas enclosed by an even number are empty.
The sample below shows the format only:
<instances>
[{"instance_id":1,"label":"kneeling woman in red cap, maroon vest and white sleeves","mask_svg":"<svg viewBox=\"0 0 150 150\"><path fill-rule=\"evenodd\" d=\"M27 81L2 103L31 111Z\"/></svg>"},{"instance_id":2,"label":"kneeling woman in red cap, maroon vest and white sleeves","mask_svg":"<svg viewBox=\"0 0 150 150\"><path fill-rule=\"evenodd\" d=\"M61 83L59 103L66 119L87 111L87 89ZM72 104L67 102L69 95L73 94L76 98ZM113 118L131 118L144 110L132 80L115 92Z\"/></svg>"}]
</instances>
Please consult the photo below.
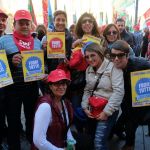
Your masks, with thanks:
<instances>
[{"instance_id":1,"label":"kneeling woman in red cap, maroon vest and white sleeves","mask_svg":"<svg viewBox=\"0 0 150 150\"><path fill-rule=\"evenodd\" d=\"M76 143L70 125L72 107L64 98L70 78L61 69L48 76L49 93L39 98L35 113L33 141L39 150L64 150L67 142Z\"/></svg>"}]
</instances>

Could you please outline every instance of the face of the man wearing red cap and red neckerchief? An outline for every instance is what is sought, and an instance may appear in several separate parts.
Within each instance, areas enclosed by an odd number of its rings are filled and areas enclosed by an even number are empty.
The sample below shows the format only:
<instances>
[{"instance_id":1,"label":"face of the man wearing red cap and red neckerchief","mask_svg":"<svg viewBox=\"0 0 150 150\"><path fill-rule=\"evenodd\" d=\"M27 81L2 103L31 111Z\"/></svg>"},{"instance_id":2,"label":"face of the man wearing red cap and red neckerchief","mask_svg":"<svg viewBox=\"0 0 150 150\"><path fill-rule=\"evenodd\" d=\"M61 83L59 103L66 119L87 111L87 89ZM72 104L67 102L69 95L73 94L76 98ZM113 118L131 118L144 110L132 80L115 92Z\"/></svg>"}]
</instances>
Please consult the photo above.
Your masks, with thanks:
<instances>
[{"instance_id":1,"label":"face of the man wearing red cap and red neckerchief","mask_svg":"<svg viewBox=\"0 0 150 150\"><path fill-rule=\"evenodd\" d=\"M14 28L19 34L28 36L32 29L32 23L26 19L17 20L14 23Z\"/></svg>"}]
</instances>

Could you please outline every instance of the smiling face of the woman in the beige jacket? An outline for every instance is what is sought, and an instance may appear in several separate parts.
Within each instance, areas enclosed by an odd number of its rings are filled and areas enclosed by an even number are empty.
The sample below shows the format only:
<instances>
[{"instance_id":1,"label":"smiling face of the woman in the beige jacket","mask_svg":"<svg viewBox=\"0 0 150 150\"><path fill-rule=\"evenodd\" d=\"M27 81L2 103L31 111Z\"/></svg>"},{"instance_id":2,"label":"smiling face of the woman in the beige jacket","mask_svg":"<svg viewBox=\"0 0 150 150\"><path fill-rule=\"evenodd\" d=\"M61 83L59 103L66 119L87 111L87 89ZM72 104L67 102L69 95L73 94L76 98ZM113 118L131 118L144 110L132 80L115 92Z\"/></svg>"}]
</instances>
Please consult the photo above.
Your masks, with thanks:
<instances>
[{"instance_id":1,"label":"smiling face of the woman in the beige jacket","mask_svg":"<svg viewBox=\"0 0 150 150\"><path fill-rule=\"evenodd\" d=\"M92 66L93 68L96 68L96 69L98 69L103 62L100 55L94 51L93 52L86 51L85 52L85 59L90 66Z\"/></svg>"}]
</instances>

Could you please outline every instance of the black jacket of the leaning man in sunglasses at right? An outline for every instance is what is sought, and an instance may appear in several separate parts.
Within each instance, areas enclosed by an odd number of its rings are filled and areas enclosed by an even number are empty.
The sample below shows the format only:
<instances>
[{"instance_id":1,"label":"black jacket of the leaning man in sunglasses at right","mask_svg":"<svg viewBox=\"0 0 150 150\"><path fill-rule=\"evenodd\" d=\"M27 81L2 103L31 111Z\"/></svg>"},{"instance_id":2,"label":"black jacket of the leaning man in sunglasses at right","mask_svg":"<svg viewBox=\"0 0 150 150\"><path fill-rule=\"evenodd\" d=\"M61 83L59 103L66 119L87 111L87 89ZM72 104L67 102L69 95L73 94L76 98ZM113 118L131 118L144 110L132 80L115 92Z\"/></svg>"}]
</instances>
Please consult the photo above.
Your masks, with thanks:
<instances>
[{"instance_id":1,"label":"black jacket of the leaning man in sunglasses at right","mask_svg":"<svg viewBox=\"0 0 150 150\"><path fill-rule=\"evenodd\" d=\"M131 77L130 73L134 71L150 69L150 62L142 57L129 58L127 67L124 72L124 87L125 95L122 102L122 109L129 113L129 115L139 112L139 110L150 109L150 107L132 107L132 93L131 93ZM131 113L132 112L132 113Z\"/></svg>"}]
</instances>

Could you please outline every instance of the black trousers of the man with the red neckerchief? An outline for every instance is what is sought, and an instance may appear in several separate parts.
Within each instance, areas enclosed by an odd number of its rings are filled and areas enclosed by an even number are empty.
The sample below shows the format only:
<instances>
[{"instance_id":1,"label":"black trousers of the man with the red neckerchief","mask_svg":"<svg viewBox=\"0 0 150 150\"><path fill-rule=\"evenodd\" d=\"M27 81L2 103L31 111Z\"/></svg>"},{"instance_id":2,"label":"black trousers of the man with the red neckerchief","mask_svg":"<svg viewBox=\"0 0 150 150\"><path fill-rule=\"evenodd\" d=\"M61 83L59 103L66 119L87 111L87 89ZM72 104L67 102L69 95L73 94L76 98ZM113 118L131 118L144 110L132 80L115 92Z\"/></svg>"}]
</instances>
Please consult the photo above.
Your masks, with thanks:
<instances>
[{"instance_id":1,"label":"black trousers of the man with the red neckerchief","mask_svg":"<svg viewBox=\"0 0 150 150\"><path fill-rule=\"evenodd\" d=\"M26 137L32 143L33 116L38 98L38 85L37 82L13 84L5 88L5 94L9 150L20 150L21 105L24 106Z\"/></svg>"}]
</instances>

